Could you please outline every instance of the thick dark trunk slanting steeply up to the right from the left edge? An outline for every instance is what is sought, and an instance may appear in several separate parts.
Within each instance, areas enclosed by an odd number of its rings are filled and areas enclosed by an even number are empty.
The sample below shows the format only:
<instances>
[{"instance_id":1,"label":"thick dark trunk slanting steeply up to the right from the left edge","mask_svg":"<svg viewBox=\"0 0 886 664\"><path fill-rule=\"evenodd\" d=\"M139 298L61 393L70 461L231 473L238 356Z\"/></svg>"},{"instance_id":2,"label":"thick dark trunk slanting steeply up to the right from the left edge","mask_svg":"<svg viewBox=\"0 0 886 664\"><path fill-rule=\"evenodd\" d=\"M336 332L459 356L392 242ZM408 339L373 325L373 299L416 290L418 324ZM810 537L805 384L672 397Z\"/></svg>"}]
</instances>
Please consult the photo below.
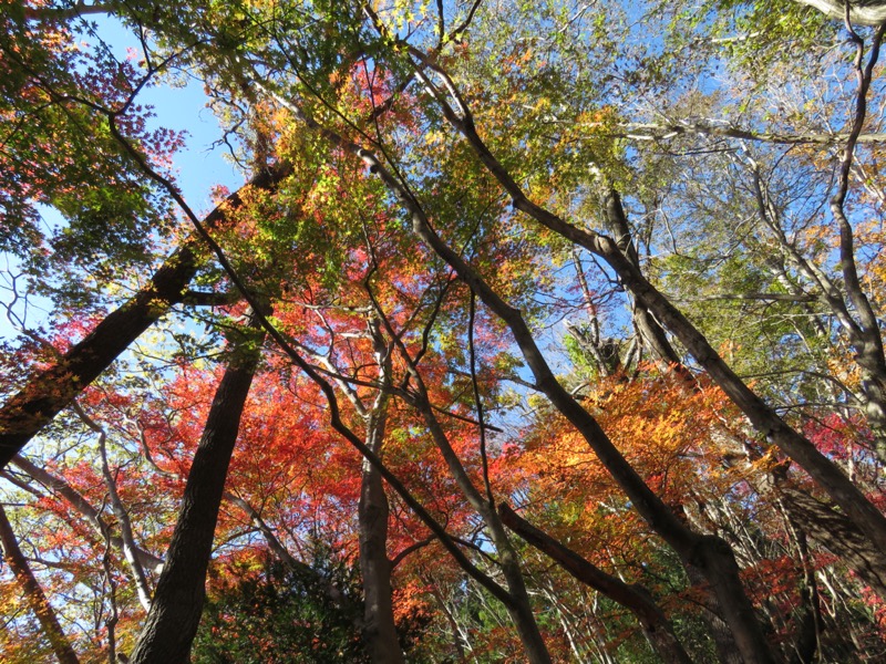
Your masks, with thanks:
<instances>
[{"instance_id":1,"label":"thick dark trunk slanting steeply up to the right from the left edge","mask_svg":"<svg viewBox=\"0 0 886 664\"><path fill-rule=\"evenodd\" d=\"M261 172L209 212L205 228L217 226L228 209L243 205L246 187L271 189L292 172L281 164ZM62 359L34 375L0 408L0 469L145 330L182 302L202 259L200 239L190 236L151 278L151 282L104 320Z\"/></svg>"}]
</instances>

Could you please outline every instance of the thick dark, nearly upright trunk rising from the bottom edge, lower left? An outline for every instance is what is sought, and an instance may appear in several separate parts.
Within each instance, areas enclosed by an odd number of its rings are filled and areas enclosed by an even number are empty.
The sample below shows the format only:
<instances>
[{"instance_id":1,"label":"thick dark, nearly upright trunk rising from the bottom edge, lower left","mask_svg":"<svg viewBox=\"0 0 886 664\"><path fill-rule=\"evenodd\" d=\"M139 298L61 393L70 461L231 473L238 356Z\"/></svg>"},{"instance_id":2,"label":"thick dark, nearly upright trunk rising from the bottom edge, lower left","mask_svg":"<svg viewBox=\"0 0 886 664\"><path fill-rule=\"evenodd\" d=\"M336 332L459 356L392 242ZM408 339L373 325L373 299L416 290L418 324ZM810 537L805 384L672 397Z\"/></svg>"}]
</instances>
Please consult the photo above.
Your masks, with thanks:
<instances>
[{"instance_id":1,"label":"thick dark, nearly upright trunk rising from the bottom edge, lower left","mask_svg":"<svg viewBox=\"0 0 886 664\"><path fill-rule=\"evenodd\" d=\"M240 416L258 364L254 338L235 349L216 390L182 511L132 664L186 664L206 599L206 570Z\"/></svg>"}]
</instances>

